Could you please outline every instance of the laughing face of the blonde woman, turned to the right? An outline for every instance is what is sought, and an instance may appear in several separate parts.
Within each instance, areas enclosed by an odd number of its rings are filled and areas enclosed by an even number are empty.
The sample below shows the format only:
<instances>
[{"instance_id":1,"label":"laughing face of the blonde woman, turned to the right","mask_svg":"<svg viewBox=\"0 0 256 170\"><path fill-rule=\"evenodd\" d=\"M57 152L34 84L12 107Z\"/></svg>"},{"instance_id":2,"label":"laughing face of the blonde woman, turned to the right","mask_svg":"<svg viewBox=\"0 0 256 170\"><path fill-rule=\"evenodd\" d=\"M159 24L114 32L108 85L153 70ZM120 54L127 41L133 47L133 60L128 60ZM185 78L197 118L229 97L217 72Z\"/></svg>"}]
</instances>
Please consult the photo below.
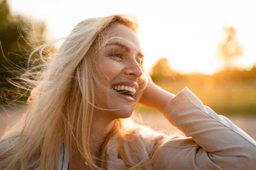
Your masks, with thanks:
<instances>
[{"instance_id":1,"label":"laughing face of the blonde woman, turned to the right","mask_svg":"<svg viewBox=\"0 0 256 170\"><path fill-rule=\"evenodd\" d=\"M96 114L127 118L144 88L140 43L136 34L121 24L106 29L103 37L91 52L100 84L96 87L97 107L109 110L97 109Z\"/></svg>"}]
</instances>

